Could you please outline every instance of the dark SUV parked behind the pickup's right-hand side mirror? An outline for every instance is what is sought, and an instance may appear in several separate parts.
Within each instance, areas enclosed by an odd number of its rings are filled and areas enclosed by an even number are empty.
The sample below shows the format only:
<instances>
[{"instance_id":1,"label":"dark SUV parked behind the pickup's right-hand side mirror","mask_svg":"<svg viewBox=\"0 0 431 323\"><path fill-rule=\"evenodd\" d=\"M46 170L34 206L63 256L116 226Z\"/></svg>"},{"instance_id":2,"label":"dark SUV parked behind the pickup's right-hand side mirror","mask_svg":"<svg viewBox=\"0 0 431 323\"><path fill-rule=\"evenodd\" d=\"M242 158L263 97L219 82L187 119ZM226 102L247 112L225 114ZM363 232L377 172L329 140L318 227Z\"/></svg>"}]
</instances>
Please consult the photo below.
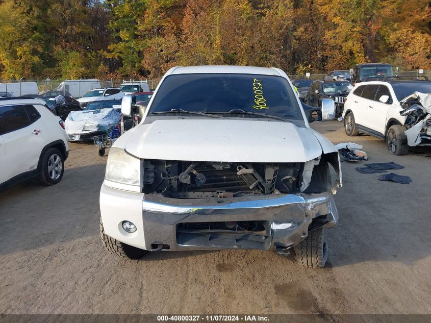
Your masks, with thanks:
<instances>
[{"instance_id":1,"label":"dark SUV parked behind the pickup's right-hand side mirror","mask_svg":"<svg viewBox=\"0 0 431 323\"><path fill-rule=\"evenodd\" d=\"M310 86L304 103L311 107L320 107L322 100L330 98L335 101L335 115L341 116L344 102L353 85L348 81L314 81Z\"/></svg>"}]
</instances>

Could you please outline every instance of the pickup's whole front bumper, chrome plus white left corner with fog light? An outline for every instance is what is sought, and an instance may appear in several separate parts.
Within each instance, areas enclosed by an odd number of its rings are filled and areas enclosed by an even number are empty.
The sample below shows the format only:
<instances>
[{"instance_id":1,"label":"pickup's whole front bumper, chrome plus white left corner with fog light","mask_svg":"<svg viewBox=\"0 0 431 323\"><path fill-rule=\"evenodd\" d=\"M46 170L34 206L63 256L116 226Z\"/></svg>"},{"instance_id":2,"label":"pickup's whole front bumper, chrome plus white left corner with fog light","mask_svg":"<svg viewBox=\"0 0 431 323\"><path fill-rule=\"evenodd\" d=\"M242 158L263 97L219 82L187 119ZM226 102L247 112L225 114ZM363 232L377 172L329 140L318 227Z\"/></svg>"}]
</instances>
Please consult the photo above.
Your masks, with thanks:
<instances>
[{"instance_id":1,"label":"pickup's whole front bumper, chrome plus white left corner with fog light","mask_svg":"<svg viewBox=\"0 0 431 323\"><path fill-rule=\"evenodd\" d=\"M100 213L105 233L114 239L145 250L163 245L170 251L287 248L305 239L310 230L338 222L331 193L182 200L105 184ZM136 232L124 231L123 221L133 222ZM245 230L220 229L220 223L244 222L254 224ZM252 230L256 223L261 230Z\"/></svg>"}]
</instances>

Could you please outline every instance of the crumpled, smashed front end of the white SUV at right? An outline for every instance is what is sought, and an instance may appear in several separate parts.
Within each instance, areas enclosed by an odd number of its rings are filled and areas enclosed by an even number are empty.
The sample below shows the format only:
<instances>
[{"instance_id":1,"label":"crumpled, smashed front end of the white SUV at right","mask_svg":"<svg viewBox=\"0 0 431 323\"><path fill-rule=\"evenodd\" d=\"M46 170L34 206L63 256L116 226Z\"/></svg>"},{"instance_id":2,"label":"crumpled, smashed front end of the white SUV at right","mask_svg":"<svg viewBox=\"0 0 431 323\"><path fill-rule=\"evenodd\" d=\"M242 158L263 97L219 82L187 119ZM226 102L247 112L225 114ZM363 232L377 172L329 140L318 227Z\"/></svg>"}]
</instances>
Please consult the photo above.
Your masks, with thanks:
<instances>
[{"instance_id":1,"label":"crumpled, smashed front end of the white SUV at right","mask_svg":"<svg viewBox=\"0 0 431 323\"><path fill-rule=\"evenodd\" d=\"M431 144L431 93L414 92L400 103L404 108L400 114L407 116L404 126L408 145L417 146L421 141Z\"/></svg>"}]
</instances>

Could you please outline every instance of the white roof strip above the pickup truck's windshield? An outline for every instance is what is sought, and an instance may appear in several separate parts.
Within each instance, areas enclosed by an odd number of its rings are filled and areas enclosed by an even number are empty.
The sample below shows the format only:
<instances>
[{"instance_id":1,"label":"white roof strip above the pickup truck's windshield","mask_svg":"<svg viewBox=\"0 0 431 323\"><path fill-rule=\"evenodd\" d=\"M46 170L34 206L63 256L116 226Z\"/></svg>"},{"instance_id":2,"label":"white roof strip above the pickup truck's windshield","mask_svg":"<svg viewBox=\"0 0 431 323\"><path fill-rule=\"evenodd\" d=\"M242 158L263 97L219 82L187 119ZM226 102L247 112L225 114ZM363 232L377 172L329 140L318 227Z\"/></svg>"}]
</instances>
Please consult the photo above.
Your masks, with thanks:
<instances>
[{"instance_id":1,"label":"white roof strip above the pickup truck's windshield","mask_svg":"<svg viewBox=\"0 0 431 323\"><path fill-rule=\"evenodd\" d=\"M169 74L197 73L238 73L283 76L276 68L255 66L206 65L206 66L176 66Z\"/></svg>"}]
</instances>

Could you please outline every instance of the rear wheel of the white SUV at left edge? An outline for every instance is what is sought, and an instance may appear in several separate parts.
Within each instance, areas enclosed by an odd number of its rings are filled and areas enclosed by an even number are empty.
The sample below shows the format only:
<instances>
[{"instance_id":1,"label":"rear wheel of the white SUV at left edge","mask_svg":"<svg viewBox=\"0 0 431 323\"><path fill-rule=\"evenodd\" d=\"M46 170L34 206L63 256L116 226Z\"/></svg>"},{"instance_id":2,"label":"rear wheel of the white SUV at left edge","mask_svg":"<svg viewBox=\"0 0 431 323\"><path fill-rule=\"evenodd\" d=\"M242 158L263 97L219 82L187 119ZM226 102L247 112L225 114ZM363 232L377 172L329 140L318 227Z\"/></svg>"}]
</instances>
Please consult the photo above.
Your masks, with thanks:
<instances>
[{"instance_id":1,"label":"rear wheel of the white SUV at left edge","mask_svg":"<svg viewBox=\"0 0 431 323\"><path fill-rule=\"evenodd\" d=\"M64 158L57 148L49 148L40 160L39 182L54 185L61 181L64 173Z\"/></svg>"}]
</instances>

